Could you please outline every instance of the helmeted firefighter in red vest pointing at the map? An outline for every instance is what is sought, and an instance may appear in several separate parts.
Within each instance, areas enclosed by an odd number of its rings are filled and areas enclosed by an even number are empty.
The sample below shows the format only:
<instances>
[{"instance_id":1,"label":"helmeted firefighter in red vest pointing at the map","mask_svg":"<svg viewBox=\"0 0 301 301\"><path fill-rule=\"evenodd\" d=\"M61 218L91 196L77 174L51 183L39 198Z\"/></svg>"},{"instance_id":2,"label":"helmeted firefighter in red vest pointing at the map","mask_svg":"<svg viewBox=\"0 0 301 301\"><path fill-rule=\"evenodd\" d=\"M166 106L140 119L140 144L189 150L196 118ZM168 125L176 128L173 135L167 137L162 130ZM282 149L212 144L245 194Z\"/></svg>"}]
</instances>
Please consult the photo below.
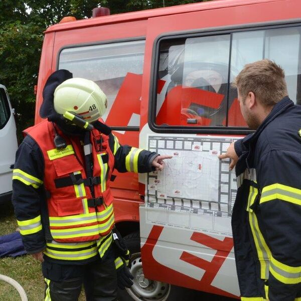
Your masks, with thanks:
<instances>
[{"instance_id":1,"label":"helmeted firefighter in red vest pointing at the map","mask_svg":"<svg viewBox=\"0 0 301 301\"><path fill-rule=\"evenodd\" d=\"M114 228L112 171L162 170L171 157L120 145L100 119L107 100L93 81L58 70L43 98L48 120L24 131L13 173L25 249L42 262L45 300L75 301L82 284L87 300L117 300L117 284L130 287L132 276Z\"/></svg>"}]
</instances>

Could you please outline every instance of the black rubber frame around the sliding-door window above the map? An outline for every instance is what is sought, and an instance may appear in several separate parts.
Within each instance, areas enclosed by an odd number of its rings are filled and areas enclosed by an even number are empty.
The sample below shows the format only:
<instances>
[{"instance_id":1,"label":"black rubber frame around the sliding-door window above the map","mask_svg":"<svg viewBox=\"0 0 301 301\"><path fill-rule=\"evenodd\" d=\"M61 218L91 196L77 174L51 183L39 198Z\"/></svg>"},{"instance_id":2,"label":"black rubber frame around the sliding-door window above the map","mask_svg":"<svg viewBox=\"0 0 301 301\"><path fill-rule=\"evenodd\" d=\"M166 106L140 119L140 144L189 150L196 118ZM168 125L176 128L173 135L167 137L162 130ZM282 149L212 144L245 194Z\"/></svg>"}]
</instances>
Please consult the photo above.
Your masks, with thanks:
<instances>
[{"instance_id":1,"label":"black rubber frame around the sliding-door window above the map","mask_svg":"<svg viewBox=\"0 0 301 301\"><path fill-rule=\"evenodd\" d=\"M149 102L148 102L148 126L156 133L200 133L200 134L226 134L226 135L247 135L254 132L247 127L235 126L181 126L181 125L158 125L156 124L156 108L157 108L157 85L158 85L158 71L160 63L160 44L162 41L173 39L187 39L199 38L218 35L230 35L230 49L229 49L229 68L228 79L231 72L231 51L232 39L234 33L260 31L269 29L292 28L301 27L300 20L285 20L282 22L267 22L260 24L245 24L240 26L229 26L224 28L208 28L201 29L202 31L183 31L170 32L168 34L159 35L153 44L152 69L150 71L150 88L149 88ZM227 89L227 98L229 98L229 89ZM227 101L227 115L226 124L228 124L228 101Z\"/></svg>"}]
</instances>

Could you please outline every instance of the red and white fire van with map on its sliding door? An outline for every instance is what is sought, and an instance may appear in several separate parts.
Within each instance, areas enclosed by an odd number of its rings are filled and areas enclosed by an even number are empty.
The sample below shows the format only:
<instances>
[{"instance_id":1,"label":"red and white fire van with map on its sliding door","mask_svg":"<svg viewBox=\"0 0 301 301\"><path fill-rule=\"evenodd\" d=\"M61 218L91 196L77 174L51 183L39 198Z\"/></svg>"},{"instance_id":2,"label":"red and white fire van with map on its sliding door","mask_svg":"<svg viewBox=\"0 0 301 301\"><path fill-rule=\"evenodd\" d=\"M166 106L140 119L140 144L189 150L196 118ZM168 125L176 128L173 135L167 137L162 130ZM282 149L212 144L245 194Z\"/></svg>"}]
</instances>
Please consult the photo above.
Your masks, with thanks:
<instances>
[{"instance_id":1,"label":"red and white fire van with map on its sliding door","mask_svg":"<svg viewBox=\"0 0 301 301\"><path fill-rule=\"evenodd\" d=\"M115 172L115 219L134 275L120 299L188 299L178 286L239 298L236 179L217 156L250 130L231 82L245 64L269 58L299 103L300 35L299 0L217 0L67 18L46 30L36 123L48 76L67 69L106 93L103 119L121 144L173 155L162 173Z\"/></svg>"}]
</instances>

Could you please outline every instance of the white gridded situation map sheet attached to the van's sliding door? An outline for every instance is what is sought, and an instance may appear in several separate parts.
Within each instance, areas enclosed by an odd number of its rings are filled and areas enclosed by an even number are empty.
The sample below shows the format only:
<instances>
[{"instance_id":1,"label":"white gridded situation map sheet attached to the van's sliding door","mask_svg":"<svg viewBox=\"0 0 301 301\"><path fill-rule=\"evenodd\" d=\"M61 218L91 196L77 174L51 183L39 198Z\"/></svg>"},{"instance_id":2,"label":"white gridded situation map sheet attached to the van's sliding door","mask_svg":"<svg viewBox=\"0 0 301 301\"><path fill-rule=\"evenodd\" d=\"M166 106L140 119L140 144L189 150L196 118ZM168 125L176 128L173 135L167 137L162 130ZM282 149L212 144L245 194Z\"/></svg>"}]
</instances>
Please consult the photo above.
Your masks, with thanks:
<instances>
[{"instance_id":1,"label":"white gridded situation map sheet attached to the van's sliding door","mask_svg":"<svg viewBox=\"0 0 301 301\"><path fill-rule=\"evenodd\" d=\"M147 176L146 221L231 236L236 177L218 155L236 139L149 135L148 149L173 159Z\"/></svg>"}]
</instances>

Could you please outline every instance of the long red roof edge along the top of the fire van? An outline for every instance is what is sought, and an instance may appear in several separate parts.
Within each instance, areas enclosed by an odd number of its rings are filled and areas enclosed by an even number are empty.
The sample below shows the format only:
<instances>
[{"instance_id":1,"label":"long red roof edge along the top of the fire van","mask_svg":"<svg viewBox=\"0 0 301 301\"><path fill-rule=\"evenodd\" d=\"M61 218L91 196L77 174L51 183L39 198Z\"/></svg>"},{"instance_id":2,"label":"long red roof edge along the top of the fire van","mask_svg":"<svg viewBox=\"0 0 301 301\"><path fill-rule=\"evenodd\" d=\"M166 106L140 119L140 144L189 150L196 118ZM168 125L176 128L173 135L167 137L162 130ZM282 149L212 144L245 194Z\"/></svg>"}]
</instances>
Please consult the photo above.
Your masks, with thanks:
<instances>
[{"instance_id":1,"label":"long red roof edge along the top of the fire van","mask_svg":"<svg viewBox=\"0 0 301 301\"><path fill-rule=\"evenodd\" d=\"M45 33L71 30L75 28L84 28L91 27L101 24L112 24L112 23L121 23L135 20L143 20L148 18L176 15L183 13L190 13L195 11L205 11L211 9L221 9L226 7L235 7L235 6L245 6L250 4L257 3L268 3L268 2L278 2L283 0L213 0L210 2L202 2L195 4L186 4L180 6L173 6L160 9L152 9L145 11L138 11L125 14L116 14L110 16L103 16L91 19L83 19L73 22L66 22L62 24L55 24L50 26Z\"/></svg>"}]
</instances>

